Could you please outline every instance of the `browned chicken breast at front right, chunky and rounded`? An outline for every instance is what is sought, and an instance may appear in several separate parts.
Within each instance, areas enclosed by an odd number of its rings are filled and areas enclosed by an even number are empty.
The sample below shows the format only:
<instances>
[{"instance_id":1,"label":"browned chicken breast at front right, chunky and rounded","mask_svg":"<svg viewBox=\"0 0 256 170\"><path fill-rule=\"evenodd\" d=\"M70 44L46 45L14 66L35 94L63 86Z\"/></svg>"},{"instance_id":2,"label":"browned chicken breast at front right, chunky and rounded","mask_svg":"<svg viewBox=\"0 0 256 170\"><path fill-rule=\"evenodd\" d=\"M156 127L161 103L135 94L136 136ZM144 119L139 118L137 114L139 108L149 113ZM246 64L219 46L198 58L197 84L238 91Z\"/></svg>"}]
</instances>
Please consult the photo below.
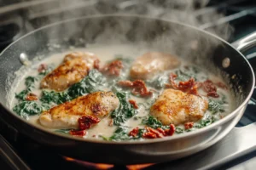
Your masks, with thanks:
<instances>
[{"instance_id":1,"label":"browned chicken breast at front right, chunky and rounded","mask_svg":"<svg viewBox=\"0 0 256 170\"><path fill-rule=\"evenodd\" d=\"M198 121L207 109L207 99L170 88L156 99L150 108L150 114L164 125L178 125Z\"/></svg>"}]
</instances>

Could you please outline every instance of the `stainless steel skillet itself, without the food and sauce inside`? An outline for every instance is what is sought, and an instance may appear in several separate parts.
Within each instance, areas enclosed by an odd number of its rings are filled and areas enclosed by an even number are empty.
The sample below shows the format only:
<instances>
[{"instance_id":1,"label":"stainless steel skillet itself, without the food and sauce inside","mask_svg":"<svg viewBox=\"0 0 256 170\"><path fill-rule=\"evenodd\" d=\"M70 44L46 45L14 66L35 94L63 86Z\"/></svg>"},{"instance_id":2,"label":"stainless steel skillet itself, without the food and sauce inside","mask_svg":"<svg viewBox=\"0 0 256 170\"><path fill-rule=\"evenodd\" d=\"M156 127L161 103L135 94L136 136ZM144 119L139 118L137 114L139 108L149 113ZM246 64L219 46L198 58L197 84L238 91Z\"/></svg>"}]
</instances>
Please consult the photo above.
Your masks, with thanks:
<instances>
[{"instance_id":1,"label":"stainless steel skillet itself, without the food and sauce inside","mask_svg":"<svg viewBox=\"0 0 256 170\"><path fill-rule=\"evenodd\" d=\"M242 50L254 42L250 40L246 46L240 44L239 47ZM79 139L50 133L43 127L27 123L9 109L7 96L15 85L15 71L22 66L20 56L26 55L32 60L38 55L47 57L67 50L71 45L84 47L86 43L133 43L154 47L191 60L209 71L221 73L232 87L236 109L224 119L195 132L165 139L129 142ZM24 134L64 156L115 164L170 161L215 144L239 121L255 82L253 69L247 59L221 38L170 20L114 14L67 20L21 37L0 55L0 74L0 118L11 125L14 135Z\"/></svg>"}]
</instances>

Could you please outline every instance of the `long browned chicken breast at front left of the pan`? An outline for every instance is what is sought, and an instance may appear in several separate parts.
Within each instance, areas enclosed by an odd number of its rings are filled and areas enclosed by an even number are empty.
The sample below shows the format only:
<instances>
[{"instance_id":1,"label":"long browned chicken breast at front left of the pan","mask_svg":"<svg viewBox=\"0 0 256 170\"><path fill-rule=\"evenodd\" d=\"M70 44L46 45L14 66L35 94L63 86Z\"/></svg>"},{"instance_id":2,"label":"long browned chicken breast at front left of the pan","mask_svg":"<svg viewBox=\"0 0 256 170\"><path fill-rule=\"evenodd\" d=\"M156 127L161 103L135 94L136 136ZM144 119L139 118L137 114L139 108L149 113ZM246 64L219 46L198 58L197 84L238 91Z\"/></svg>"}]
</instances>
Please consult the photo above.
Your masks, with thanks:
<instances>
[{"instance_id":1,"label":"long browned chicken breast at front left of the pan","mask_svg":"<svg viewBox=\"0 0 256 170\"><path fill-rule=\"evenodd\" d=\"M118 106L119 99L113 92L96 92L44 111L39 122L49 128L78 128L81 116L102 118Z\"/></svg>"}]
</instances>

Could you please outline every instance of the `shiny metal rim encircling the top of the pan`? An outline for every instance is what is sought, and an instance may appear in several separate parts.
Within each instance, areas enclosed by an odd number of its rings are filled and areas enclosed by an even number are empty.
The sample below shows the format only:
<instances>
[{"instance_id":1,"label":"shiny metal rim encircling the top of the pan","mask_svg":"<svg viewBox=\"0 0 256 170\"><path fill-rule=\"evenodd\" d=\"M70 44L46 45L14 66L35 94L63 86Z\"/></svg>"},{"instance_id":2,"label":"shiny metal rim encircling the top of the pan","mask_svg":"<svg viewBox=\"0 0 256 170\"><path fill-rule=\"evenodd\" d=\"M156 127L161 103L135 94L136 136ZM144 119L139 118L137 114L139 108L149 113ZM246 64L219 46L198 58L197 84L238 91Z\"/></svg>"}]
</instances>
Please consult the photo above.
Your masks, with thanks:
<instances>
[{"instance_id":1,"label":"shiny metal rim encircling the top of the pan","mask_svg":"<svg viewBox=\"0 0 256 170\"><path fill-rule=\"evenodd\" d=\"M46 130L44 127L38 127L38 126L33 125L32 123L26 122L25 119L16 115L6 105L3 105L2 103L0 103L3 106L3 108L6 111L9 111L10 115L12 115L13 118L18 119L22 123L26 123L26 125L28 125L32 128L36 128L37 130L41 131L41 133L48 133L49 135L55 135L55 136L57 136L61 139L72 139L72 140L75 140L77 142L97 143L97 144L151 144L151 143L166 142L166 141L171 141L171 140L189 138L189 137L193 137L195 135L198 135L200 133L205 133L205 132L211 130L212 128L214 128L214 127L216 128L216 127L221 126L224 122L228 122L231 118L236 116L236 114L238 114L238 112L241 111L241 109L243 107L245 107L247 105L249 99L251 98L251 96L253 94L253 89L254 89L254 84L255 84L255 77L254 77L254 72L253 72L252 66L247 61L247 59L243 56L243 54L241 54L240 51L236 50L236 48L232 47L229 42L226 42L224 39L222 39L222 38L220 38L220 37L218 37L218 36L216 36L212 33L208 32L208 31L201 30L200 28L197 28L195 26L189 26L187 24L180 23L180 22L175 21L175 20L158 19L158 18L155 18L155 17L148 17L148 16L140 15L140 14L96 14L96 15L90 15L90 16L82 16L82 17L73 18L73 19L69 19L69 20L61 20L61 21L55 22L53 24L49 24L47 26L40 27L40 28L38 28L34 31L31 31L31 32L27 33L26 35L24 35L23 37L20 37L19 39L17 39L15 42L12 42L11 44L9 44L9 46L7 48L3 49L2 53L0 54L0 59L1 59L1 56L5 53L5 51L7 51L10 47L12 47L16 42L22 41L22 39L24 37L32 36L32 34L34 34L35 32L44 30L44 29L52 27L52 26L58 26L58 25L61 25L63 23L71 22L71 21L74 21L74 20L86 20L86 19L93 19L93 18L109 18L109 17L115 17L115 18L116 17L131 18L132 17L132 18L140 18L140 19L148 19L148 20L159 20L159 21L162 21L162 22L174 23L174 24L177 24L177 25L180 25L180 26L186 26L186 27L189 27L191 29L201 31L204 34L206 34L207 36L215 37L218 40L220 40L221 42L224 42L226 45L230 46L230 48L233 48L238 54L241 55L241 57L245 60L245 62L247 63L247 66L251 70L251 74L252 74L252 77L253 77L253 83L252 83L252 87L250 89L250 92L247 95L247 98L244 99L244 101L241 103L241 105L239 105L236 108L235 111L232 111L228 116L225 116L223 119L218 120L218 122L214 122L211 125L208 125L207 127L197 129L193 132L177 134L177 135L174 135L172 137L166 137L166 138L161 138L161 139L129 140L129 141L107 141L107 140L101 140L101 139L81 139L81 138L76 138L76 137L72 137L72 136L69 136L69 135L61 134L61 133L50 132L50 131Z\"/></svg>"}]
</instances>

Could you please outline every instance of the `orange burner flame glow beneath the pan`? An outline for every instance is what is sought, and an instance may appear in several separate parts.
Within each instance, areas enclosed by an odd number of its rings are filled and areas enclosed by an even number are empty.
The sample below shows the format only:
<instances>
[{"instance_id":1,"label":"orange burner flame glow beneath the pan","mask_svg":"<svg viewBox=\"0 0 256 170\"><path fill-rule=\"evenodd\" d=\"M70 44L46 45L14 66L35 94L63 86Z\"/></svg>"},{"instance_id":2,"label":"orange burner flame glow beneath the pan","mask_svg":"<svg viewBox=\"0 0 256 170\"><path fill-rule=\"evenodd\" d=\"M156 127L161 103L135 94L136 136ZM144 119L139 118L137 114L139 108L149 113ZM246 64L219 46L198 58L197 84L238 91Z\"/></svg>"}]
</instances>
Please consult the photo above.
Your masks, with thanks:
<instances>
[{"instance_id":1,"label":"orange burner flame glow beneath the pan","mask_svg":"<svg viewBox=\"0 0 256 170\"><path fill-rule=\"evenodd\" d=\"M72 157L62 156L66 161L72 161L74 163L77 163L81 166L88 167L90 169L101 169L101 170L107 170L107 169L115 169L115 165L113 164L105 164L105 163L92 163L89 161L81 161L74 159ZM142 170L143 168L150 167L154 165L154 163L147 163L147 164L137 164L137 165L124 165L125 169L127 170Z\"/></svg>"}]
</instances>

